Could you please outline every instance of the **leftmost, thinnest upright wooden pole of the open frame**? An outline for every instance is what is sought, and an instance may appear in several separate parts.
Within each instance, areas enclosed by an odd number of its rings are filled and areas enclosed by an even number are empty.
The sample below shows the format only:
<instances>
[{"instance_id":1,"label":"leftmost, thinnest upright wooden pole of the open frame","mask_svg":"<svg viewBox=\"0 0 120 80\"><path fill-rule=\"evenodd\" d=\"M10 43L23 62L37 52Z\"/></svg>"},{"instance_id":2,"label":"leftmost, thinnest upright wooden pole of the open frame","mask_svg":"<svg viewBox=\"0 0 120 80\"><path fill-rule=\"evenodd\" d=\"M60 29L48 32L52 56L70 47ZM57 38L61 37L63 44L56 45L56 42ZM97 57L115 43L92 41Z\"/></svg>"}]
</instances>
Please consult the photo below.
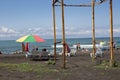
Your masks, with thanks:
<instances>
[{"instance_id":1,"label":"leftmost, thinnest upright wooden pole of the open frame","mask_svg":"<svg viewBox=\"0 0 120 80\"><path fill-rule=\"evenodd\" d=\"M55 6L54 6L55 0L53 0L52 3L52 12L53 12L53 29L54 29L54 61L56 64L56 23L55 23Z\"/></svg>"}]
</instances>

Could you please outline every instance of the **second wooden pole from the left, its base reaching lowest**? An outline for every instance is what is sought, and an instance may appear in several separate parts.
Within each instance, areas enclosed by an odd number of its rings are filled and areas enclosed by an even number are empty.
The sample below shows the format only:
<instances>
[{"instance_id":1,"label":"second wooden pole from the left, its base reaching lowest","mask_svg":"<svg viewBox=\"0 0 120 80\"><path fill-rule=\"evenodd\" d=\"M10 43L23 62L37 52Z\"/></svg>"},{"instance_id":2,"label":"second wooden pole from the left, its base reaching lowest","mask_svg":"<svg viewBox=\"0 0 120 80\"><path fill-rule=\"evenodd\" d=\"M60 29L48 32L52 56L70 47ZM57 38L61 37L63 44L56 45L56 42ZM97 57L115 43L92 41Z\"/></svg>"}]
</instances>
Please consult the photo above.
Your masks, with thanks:
<instances>
[{"instance_id":1,"label":"second wooden pole from the left, its base reaching lowest","mask_svg":"<svg viewBox=\"0 0 120 80\"><path fill-rule=\"evenodd\" d=\"M66 56L65 56L65 27L64 27L64 1L61 0L62 9L62 44L63 44L63 68L66 68Z\"/></svg>"}]
</instances>

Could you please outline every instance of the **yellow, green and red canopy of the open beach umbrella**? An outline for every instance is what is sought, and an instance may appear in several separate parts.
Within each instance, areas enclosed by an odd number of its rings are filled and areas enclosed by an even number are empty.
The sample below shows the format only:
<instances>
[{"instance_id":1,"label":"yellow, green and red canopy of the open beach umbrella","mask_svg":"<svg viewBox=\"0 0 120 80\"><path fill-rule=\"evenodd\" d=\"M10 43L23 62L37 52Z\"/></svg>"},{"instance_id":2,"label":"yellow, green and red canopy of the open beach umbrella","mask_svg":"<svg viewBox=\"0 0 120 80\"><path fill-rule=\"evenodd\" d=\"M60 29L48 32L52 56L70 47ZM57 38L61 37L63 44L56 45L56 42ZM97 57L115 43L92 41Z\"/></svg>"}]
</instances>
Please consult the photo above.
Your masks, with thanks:
<instances>
[{"instance_id":1,"label":"yellow, green and red canopy of the open beach umbrella","mask_svg":"<svg viewBox=\"0 0 120 80\"><path fill-rule=\"evenodd\" d=\"M27 35L16 40L16 42L44 42L45 40L37 35Z\"/></svg>"}]
</instances>

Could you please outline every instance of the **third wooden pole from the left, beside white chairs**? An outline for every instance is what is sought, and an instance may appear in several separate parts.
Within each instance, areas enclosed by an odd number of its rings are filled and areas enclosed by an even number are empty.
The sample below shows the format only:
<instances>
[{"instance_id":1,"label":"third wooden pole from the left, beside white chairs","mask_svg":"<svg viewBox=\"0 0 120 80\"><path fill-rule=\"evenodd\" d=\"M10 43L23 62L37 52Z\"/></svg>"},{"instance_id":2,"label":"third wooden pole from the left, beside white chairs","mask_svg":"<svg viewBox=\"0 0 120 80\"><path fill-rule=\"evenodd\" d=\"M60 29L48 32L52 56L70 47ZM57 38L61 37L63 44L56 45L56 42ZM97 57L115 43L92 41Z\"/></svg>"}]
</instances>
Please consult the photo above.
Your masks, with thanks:
<instances>
[{"instance_id":1,"label":"third wooden pole from the left, beside white chairs","mask_svg":"<svg viewBox=\"0 0 120 80\"><path fill-rule=\"evenodd\" d=\"M93 56L92 56L92 62L95 59L95 16L94 16L94 0L92 0L92 44L93 44Z\"/></svg>"}]
</instances>

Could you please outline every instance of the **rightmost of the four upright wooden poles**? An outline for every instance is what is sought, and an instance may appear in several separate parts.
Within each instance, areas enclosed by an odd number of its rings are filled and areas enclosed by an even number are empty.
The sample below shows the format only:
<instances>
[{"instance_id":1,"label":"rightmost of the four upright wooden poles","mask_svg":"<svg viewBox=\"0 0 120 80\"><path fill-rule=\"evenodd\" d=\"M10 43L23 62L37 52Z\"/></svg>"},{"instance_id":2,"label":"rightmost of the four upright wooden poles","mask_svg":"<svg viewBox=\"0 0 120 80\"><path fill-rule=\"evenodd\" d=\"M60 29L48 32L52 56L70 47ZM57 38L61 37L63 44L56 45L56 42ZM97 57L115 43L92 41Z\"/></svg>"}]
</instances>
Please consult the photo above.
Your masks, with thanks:
<instances>
[{"instance_id":1,"label":"rightmost of the four upright wooden poles","mask_svg":"<svg viewBox=\"0 0 120 80\"><path fill-rule=\"evenodd\" d=\"M112 0L110 0L110 66L113 66L113 16L112 16Z\"/></svg>"}]
</instances>

